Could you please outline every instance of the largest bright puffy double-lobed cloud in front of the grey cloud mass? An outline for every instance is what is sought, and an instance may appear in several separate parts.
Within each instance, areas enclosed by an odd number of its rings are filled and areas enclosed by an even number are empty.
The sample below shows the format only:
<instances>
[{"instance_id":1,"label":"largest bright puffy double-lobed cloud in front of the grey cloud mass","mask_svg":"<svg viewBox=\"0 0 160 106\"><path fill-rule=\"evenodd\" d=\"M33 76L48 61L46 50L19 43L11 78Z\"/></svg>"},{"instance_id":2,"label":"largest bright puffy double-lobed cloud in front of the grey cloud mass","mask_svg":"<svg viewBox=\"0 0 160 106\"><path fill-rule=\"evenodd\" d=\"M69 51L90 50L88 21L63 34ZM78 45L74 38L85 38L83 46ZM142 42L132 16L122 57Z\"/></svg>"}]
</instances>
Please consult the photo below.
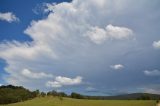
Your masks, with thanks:
<instances>
[{"instance_id":1,"label":"largest bright puffy double-lobed cloud in front of the grey cloud mass","mask_svg":"<svg viewBox=\"0 0 160 106\"><path fill-rule=\"evenodd\" d=\"M91 41L96 44L103 43L106 39L127 39L133 35L131 29L125 27L118 27L113 25L107 25L105 29L99 27L91 27L91 29L86 33Z\"/></svg>"}]
</instances>

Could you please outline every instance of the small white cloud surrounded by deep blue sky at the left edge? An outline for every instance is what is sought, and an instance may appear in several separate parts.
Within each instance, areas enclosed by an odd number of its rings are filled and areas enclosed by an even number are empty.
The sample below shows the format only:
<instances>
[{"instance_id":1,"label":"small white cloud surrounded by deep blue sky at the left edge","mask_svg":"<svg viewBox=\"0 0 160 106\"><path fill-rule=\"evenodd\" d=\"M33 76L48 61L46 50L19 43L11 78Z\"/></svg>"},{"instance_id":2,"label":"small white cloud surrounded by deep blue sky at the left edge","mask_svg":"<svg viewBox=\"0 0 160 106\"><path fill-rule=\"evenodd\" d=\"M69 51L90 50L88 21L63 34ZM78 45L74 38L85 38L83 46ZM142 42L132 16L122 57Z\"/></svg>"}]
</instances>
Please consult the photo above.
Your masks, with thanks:
<instances>
[{"instance_id":1,"label":"small white cloud surrounded by deep blue sky at the left edge","mask_svg":"<svg viewBox=\"0 0 160 106\"><path fill-rule=\"evenodd\" d=\"M11 23L13 21L19 21L19 18L17 18L12 12L6 12L0 13L0 20Z\"/></svg>"}]
</instances>

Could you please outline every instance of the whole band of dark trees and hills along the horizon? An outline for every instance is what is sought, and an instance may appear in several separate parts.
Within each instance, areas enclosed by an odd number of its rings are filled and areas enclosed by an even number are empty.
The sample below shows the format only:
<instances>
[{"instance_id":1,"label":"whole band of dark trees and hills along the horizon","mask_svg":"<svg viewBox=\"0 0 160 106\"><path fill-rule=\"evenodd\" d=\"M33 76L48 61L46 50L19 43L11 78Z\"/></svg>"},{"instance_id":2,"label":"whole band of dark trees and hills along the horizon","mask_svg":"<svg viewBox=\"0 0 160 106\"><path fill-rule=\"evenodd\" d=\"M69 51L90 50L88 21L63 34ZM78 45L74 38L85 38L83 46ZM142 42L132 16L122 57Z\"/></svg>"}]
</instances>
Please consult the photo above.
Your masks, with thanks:
<instances>
[{"instance_id":1,"label":"whole band of dark trees and hills along the horizon","mask_svg":"<svg viewBox=\"0 0 160 106\"><path fill-rule=\"evenodd\" d=\"M159 100L160 95L147 94L147 93L134 93L118 96L84 96L79 93L71 93L67 95L64 92L56 92L55 90L47 93L40 92L39 90L30 91L22 86L0 86L0 104L9 104L22 102L35 97L56 96L63 100L62 97L71 97L75 99L101 99L101 100Z\"/></svg>"}]
</instances>

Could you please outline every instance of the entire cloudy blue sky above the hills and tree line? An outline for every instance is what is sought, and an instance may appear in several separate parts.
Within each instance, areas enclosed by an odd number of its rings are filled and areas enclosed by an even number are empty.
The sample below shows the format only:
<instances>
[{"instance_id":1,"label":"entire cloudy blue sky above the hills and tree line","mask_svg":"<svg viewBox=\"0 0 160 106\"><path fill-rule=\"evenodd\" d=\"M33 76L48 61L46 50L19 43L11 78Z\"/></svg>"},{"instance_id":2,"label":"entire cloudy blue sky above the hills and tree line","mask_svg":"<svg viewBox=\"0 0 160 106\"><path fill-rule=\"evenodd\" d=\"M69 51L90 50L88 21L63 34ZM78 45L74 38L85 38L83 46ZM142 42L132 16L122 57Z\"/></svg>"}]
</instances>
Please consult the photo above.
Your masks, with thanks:
<instances>
[{"instance_id":1,"label":"entire cloudy blue sky above the hills and tree line","mask_svg":"<svg viewBox=\"0 0 160 106\"><path fill-rule=\"evenodd\" d=\"M0 85L160 94L159 0L0 0Z\"/></svg>"}]
</instances>

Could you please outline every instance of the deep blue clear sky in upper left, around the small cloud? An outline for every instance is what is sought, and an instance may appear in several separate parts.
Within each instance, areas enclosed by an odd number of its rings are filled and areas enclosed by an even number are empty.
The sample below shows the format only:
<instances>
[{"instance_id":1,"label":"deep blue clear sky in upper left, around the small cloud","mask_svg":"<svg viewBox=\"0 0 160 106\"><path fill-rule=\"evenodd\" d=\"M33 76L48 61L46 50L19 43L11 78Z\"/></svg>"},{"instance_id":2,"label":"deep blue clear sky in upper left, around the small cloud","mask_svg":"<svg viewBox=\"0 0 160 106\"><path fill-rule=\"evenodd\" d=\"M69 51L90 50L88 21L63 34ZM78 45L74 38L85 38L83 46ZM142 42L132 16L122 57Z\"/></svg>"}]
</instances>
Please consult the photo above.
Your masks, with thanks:
<instances>
[{"instance_id":1,"label":"deep blue clear sky in upper left, around the small cloud","mask_svg":"<svg viewBox=\"0 0 160 106\"><path fill-rule=\"evenodd\" d=\"M38 5L42 5L42 3L52 3L52 2L62 2L63 0L15 0L11 2L10 0L2 0L1 1L1 12L13 12L18 18L20 18L20 22L6 24L6 22L0 21L1 26L1 36L0 40L18 40L18 41L27 41L31 40L29 36L26 36L23 33L23 30L27 28L32 20L38 20L45 17L43 13L36 15L33 12ZM69 1L69 0L66 0ZM25 13L24 13L25 12ZM16 26L16 27L15 27ZM7 27L7 29L6 29ZM7 30L7 31L6 31ZM15 31L16 30L16 31Z\"/></svg>"}]
</instances>

